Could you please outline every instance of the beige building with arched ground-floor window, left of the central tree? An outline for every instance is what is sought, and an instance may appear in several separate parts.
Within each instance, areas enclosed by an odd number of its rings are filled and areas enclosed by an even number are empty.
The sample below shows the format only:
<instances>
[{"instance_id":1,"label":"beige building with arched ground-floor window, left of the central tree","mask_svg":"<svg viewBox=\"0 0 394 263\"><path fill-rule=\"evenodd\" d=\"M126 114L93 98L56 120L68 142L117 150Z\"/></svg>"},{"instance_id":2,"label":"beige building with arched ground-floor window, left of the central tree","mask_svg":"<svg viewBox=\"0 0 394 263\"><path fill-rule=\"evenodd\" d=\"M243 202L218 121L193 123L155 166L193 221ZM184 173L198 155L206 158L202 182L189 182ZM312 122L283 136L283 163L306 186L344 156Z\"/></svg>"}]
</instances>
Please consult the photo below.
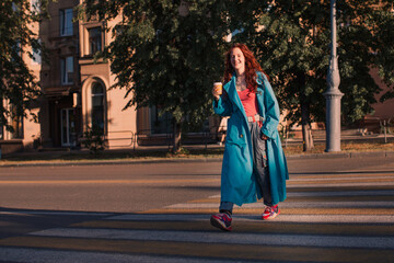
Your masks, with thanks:
<instances>
[{"instance_id":1,"label":"beige building with arched ground-floor window, left of the central tree","mask_svg":"<svg viewBox=\"0 0 394 263\"><path fill-rule=\"evenodd\" d=\"M32 4L35 2L32 0ZM78 4L79 0L49 2L51 19L31 25L49 50L48 62L38 53L33 59L22 54L44 94L32 110L38 123L13 122L16 133L3 132L2 153L23 148L78 147L83 132L93 126L104 132L108 147L132 146L136 108L121 111L125 91L108 89L114 83L109 64L93 60L93 54L111 42L111 34L102 30L101 22L74 22Z\"/></svg>"}]
</instances>

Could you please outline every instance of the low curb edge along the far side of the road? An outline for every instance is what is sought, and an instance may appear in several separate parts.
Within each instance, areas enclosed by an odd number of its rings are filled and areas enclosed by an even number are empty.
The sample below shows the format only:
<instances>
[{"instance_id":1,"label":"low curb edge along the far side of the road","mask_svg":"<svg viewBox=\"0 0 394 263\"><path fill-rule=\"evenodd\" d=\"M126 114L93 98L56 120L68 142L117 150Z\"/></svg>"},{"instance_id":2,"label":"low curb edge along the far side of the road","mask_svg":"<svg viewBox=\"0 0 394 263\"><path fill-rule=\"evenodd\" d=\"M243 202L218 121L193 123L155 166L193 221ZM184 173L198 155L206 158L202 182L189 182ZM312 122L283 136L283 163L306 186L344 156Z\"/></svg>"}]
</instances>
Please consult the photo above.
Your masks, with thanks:
<instances>
[{"instance_id":1,"label":"low curb edge along the far side of the road","mask_svg":"<svg viewBox=\"0 0 394 263\"><path fill-rule=\"evenodd\" d=\"M287 160L298 159L340 159L340 158L393 158L394 151L361 151L361 152L325 152L325 153L305 153L287 156ZM12 167L79 167L79 165L115 165L115 164L153 164L153 163L192 163L192 162L221 162L222 157L217 158L163 158L149 160L119 160L119 161L63 161L63 162L20 162L20 163L0 163L0 168Z\"/></svg>"}]
</instances>

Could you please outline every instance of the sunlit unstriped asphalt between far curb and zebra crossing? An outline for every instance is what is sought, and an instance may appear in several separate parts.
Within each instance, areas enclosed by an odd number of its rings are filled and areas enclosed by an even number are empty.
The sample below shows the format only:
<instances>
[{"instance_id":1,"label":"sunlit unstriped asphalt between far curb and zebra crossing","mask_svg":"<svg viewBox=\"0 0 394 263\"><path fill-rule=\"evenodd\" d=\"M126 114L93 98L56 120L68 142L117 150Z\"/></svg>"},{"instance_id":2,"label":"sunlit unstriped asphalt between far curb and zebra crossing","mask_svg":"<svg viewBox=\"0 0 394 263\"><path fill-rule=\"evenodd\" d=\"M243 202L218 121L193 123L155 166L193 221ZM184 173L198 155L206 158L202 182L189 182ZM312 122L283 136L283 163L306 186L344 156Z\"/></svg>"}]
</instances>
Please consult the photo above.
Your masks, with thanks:
<instances>
[{"instance_id":1,"label":"sunlit unstriped asphalt between far curb and zebra crossing","mask_svg":"<svg viewBox=\"0 0 394 263\"><path fill-rule=\"evenodd\" d=\"M292 159L290 178L389 169L394 158ZM220 162L0 168L0 207L137 213L220 191Z\"/></svg>"}]
</instances>

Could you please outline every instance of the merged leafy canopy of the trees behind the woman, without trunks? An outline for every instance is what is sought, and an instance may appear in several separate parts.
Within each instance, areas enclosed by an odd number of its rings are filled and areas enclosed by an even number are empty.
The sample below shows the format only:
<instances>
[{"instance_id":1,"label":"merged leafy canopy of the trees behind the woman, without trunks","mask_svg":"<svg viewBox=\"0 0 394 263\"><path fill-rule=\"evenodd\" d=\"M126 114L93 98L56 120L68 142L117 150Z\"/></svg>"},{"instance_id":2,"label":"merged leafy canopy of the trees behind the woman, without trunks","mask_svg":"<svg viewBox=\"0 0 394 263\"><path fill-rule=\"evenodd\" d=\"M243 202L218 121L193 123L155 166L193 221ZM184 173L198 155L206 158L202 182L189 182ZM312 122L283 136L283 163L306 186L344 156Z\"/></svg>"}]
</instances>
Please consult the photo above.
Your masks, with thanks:
<instances>
[{"instance_id":1,"label":"merged leafy canopy of the trees behind the woman, without trunks","mask_svg":"<svg viewBox=\"0 0 394 263\"><path fill-rule=\"evenodd\" d=\"M382 5L376 5L382 3ZM188 12L179 10L186 4ZM372 111L380 88L369 75L378 67L393 83L393 0L337 1L339 89L346 123ZM158 105L176 122L204 121L210 89L222 73L223 52L247 44L270 76L287 119L323 122L329 60L329 1L323 0L85 0L82 13L107 22L115 41L103 57L127 89L126 105ZM132 94L132 95L131 95ZM393 95L389 92L384 99Z\"/></svg>"}]
</instances>

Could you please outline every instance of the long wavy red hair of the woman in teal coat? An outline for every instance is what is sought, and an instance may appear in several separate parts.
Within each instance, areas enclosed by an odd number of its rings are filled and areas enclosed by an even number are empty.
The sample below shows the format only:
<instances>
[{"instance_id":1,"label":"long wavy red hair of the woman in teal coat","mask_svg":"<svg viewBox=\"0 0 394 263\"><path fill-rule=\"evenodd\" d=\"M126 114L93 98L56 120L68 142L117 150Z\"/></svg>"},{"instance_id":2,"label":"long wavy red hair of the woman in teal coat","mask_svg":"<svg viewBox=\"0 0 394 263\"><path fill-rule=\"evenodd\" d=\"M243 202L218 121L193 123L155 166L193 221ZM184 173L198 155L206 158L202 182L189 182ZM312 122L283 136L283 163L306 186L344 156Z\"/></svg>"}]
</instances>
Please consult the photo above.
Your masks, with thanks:
<instances>
[{"instance_id":1,"label":"long wavy red hair of the woman in teal coat","mask_svg":"<svg viewBox=\"0 0 394 263\"><path fill-rule=\"evenodd\" d=\"M245 80L246 87L251 92L256 92L257 90L257 72L263 72L267 78L268 76L263 71L262 67L257 62L251 49L247 48L245 44L235 43L225 54L225 65L224 65L224 83L229 82L233 75L235 73L234 68L231 65L231 52L234 48L240 48L245 57Z\"/></svg>"}]
</instances>

